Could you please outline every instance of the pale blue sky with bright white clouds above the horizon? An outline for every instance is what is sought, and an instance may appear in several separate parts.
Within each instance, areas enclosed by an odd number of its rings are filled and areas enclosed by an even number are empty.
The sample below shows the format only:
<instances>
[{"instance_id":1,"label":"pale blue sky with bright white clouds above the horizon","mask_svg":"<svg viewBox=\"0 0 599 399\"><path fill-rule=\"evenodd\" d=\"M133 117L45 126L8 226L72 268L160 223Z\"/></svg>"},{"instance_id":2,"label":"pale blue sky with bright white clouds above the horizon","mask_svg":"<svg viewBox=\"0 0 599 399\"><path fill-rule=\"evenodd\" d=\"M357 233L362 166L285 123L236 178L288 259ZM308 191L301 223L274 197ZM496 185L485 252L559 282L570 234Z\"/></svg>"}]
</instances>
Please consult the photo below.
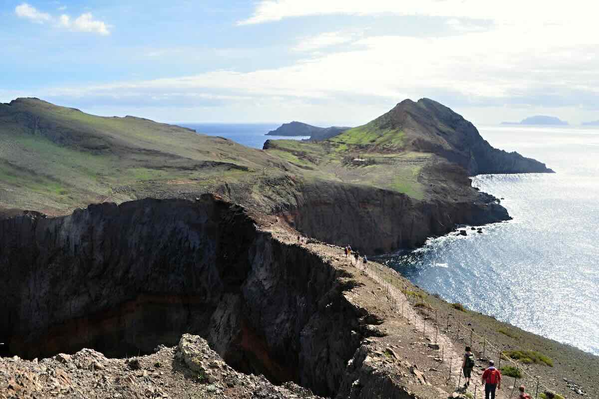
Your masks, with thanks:
<instances>
[{"instance_id":1,"label":"pale blue sky with bright white clouds above the horizon","mask_svg":"<svg viewBox=\"0 0 599 399\"><path fill-rule=\"evenodd\" d=\"M555 4L554 4L555 3ZM0 102L165 122L599 120L592 0L0 0Z\"/></svg>"}]
</instances>

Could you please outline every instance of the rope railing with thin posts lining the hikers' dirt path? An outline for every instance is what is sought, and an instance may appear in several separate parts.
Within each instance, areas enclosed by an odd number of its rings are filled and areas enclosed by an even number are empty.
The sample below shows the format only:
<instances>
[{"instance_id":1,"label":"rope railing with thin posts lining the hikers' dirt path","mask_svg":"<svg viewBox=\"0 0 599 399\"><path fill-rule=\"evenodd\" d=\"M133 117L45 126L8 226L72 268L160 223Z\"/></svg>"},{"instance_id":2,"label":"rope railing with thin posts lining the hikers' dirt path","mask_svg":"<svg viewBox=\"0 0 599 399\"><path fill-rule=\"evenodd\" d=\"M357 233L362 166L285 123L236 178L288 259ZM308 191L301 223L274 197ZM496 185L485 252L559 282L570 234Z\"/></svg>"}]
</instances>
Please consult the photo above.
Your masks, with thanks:
<instances>
[{"instance_id":1,"label":"rope railing with thin posts lining the hikers' dirt path","mask_svg":"<svg viewBox=\"0 0 599 399\"><path fill-rule=\"evenodd\" d=\"M358 264L356 264L356 267L358 266ZM397 299L394 299L394 297L392 296L391 290L389 288L389 284L391 284L392 287L397 288L397 290L399 290L400 292L402 292L404 294L404 296L406 297L405 301L407 304L409 304L410 306L419 306L422 307L423 309L426 310L431 310L434 311L435 313L435 344L437 343L437 336L438 336L438 330L439 330L439 324L438 324L438 314L437 311L438 309L436 309L435 307L433 307L430 303L428 303L428 301L426 301L419 293L416 293L415 291L408 291L408 287L406 284L404 284L400 279L398 279L395 276L389 276L386 275L385 276L385 272L383 267L381 264L377 264L377 266L374 266L371 263L366 264L365 266L366 268L373 268L376 269L374 276L375 279L377 281L379 281L380 284L382 284L385 288L386 288L386 296L388 297L389 300L389 306L391 306L392 309L398 310L399 306L397 304ZM390 268L388 268L390 269ZM391 269L390 269L391 270ZM386 280L386 278L389 279L389 281ZM395 280L395 281L394 281ZM395 283L395 284L394 284ZM403 291L400 288L400 285L403 285ZM412 297L414 299L414 304L412 304L410 302L410 297ZM414 318L413 318L413 322L414 322L414 327L415 327L415 331L419 332L418 328L416 328L416 310L413 310L413 314L414 314ZM407 318L408 323L410 323L412 321L412 318L410 318L410 310L409 308L407 309L407 315L404 314L404 301L401 301L401 315L403 317ZM446 331L449 333L449 314L447 315L447 325L446 325ZM504 351L502 351L500 348L498 348L498 345L492 343L491 341L489 341L488 339L486 339L485 336L482 336L480 334L477 334L474 332L474 328L471 328L467 325L462 324L461 321L459 321L453 314L452 314L453 319L455 320L455 322L457 323L457 327L458 327L458 331L456 333L456 339L459 340L459 328L463 327L464 331L469 331L470 332L470 346L472 345L472 339L473 337L478 337L479 339L482 339L482 345L483 345L483 351L480 352L479 354L482 353L482 358L485 358L485 355L487 353L487 351L489 351L488 353L491 353L492 351L494 353L497 353L499 355L499 362L498 362L498 368L501 367L501 361L507 361L508 363L512 364L513 366L516 366L516 370L519 371L519 373L524 374L524 376L527 376L531 381L536 382L536 394L535 394L535 398L537 399L539 397L539 388L543 388L546 390L553 390L551 388L549 388L549 386L544 382L541 381L541 379L537 376L533 376L532 374L528 373L528 371L524 370L524 368L521 368L521 363L513 360L512 358L510 358L509 356L507 356L505 354ZM425 335L425 331L426 331L426 321L423 321L423 327L422 327L422 334L423 336ZM480 344L480 342L479 342ZM441 358L441 361L444 361L444 358ZM451 360L451 359L450 359ZM451 361L450 361L451 363ZM451 364L449 366L449 379L451 379ZM461 373L460 373L461 376ZM512 387L512 392L510 393L510 398L513 395L513 391L516 388L516 382L518 380L523 380L523 377L514 377L514 385ZM458 385L459 385L459 380L458 380ZM477 390L477 387L475 386L475 392ZM561 397L565 397L562 394L558 394Z\"/></svg>"}]
</instances>

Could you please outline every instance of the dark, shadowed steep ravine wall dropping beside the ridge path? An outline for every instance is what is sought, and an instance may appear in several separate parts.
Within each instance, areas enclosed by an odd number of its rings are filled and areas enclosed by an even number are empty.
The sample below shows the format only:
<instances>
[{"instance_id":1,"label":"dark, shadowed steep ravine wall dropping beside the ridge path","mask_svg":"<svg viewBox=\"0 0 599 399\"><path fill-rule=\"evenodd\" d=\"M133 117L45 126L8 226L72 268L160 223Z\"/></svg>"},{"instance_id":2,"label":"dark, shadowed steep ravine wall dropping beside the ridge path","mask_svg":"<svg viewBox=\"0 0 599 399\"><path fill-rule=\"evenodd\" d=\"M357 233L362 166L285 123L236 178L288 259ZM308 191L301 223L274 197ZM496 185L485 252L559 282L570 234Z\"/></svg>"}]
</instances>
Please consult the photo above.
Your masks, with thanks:
<instances>
[{"instance_id":1,"label":"dark, shadowed steep ravine wall dropping beside the ridge path","mask_svg":"<svg viewBox=\"0 0 599 399\"><path fill-rule=\"evenodd\" d=\"M2 220L0 273L4 355L124 357L190 332L238 370L334 395L371 331L352 279L211 196Z\"/></svg>"}]
</instances>

